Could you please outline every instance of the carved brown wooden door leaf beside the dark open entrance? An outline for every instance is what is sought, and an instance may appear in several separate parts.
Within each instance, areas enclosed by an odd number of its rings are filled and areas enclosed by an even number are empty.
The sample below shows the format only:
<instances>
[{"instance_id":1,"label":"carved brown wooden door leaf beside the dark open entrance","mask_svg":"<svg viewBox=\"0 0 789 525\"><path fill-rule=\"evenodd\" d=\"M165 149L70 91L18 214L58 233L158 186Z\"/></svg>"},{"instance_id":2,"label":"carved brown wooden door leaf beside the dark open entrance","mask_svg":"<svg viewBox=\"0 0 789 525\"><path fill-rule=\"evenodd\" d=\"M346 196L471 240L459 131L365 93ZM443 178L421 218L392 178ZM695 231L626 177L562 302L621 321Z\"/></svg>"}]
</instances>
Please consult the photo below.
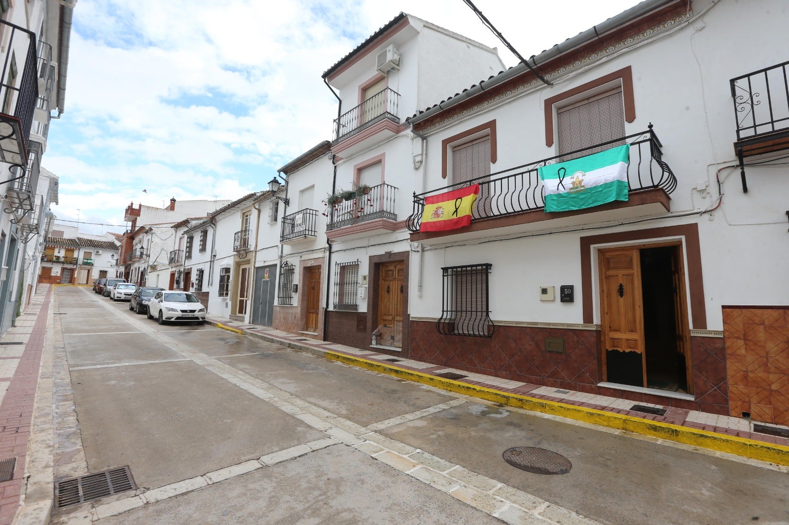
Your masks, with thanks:
<instances>
[{"instance_id":1,"label":"carved brown wooden door leaf beside the dark open entrance","mask_svg":"<svg viewBox=\"0 0 789 525\"><path fill-rule=\"evenodd\" d=\"M646 386L641 259L638 248L601 250L599 265L600 325L604 355L608 350L640 353Z\"/></svg>"}]
</instances>

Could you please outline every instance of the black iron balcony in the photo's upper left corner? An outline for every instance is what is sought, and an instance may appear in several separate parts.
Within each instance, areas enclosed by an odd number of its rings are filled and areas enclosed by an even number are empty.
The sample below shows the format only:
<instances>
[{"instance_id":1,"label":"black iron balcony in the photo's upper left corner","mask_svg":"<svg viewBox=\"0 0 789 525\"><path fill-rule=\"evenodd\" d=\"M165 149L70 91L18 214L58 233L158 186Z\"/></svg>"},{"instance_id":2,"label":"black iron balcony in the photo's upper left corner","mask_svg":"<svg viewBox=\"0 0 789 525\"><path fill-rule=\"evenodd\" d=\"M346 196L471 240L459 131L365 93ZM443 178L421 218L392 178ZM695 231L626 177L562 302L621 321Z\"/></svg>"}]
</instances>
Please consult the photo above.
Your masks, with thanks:
<instances>
[{"instance_id":1,"label":"black iron balcony in the photo's upper left corner","mask_svg":"<svg viewBox=\"0 0 789 525\"><path fill-rule=\"evenodd\" d=\"M0 20L5 61L0 76L0 161L24 168L39 97L36 35Z\"/></svg>"}]
</instances>

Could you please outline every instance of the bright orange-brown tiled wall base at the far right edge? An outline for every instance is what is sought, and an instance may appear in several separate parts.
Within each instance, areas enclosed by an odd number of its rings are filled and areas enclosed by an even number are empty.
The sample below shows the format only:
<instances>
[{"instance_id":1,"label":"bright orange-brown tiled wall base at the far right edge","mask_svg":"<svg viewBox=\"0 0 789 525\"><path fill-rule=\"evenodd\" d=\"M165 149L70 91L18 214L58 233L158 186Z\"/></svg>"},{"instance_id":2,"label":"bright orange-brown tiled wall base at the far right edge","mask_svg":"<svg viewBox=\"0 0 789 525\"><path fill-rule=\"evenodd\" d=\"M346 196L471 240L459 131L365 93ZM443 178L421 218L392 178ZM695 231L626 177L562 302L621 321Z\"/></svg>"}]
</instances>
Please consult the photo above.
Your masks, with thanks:
<instances>
[{"instance_id":1,"label":"bright orange-brown tiled wall base at the far right edge","mask_svg":"<svg viewBox=\"0 0 789 525\"><path fill-rule=\"evenodd\" d=\"M724 306L731 415L789 425L789 307Z\"/></svg>"}]
</instances>

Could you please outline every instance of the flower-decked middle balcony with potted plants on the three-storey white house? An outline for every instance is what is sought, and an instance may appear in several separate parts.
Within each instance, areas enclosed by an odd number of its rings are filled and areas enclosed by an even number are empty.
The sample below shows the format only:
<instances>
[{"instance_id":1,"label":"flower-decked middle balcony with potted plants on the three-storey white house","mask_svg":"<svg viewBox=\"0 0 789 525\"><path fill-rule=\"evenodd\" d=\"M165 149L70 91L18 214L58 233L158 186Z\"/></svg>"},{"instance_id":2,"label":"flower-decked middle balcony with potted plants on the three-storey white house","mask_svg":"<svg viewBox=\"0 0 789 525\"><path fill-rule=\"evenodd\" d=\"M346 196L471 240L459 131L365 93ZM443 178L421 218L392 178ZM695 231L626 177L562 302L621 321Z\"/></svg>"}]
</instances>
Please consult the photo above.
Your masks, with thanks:
<instances>
[{"instance_id":1,"label":"flower-decked middle balcony with potted plants on the three-storey white house","mask_svg":"<svg viewBox=\"0 0 789 525\"><path fill-rule=\"evenodd\" d=\"M378 184L364 195L343 201L329 210L327 236L371 235L381 231L397 229L395 203L397 188L390 184ZM342 231L339 231L342 229Z\"/></svg>"}]
</instances>

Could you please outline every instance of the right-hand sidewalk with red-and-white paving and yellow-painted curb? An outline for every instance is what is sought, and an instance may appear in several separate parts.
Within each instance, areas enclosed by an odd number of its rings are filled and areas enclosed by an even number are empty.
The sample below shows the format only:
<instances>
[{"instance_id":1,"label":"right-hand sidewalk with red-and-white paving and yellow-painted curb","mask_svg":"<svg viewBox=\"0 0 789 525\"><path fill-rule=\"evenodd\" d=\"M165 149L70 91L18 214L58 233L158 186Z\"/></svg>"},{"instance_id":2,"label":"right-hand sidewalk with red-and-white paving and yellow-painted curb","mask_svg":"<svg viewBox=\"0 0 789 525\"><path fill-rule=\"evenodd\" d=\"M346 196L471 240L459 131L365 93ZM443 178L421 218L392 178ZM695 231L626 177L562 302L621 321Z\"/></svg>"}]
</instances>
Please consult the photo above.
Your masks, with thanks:
<instances>
[{"instance_id":1,"label":"right-hand sidewalk with red-and-white paving and yellow-painted curb","mask_svg":"<svg viewBox=\"0 0 789 525\"><path fill-rule=\"evenodd\" d=\"M530 385L351 348L344 344L312 340L298 334L274 330L269 326L250 325L212 315L209 315L206 321L211 325L264 341L472 397L789 466L789 438L754 432L753 423L748 419ZM447 374L454 379L447 378ZM636 405L641 409L656 408L658 414L634 410ZM660 414L661 411L664 412ZM770 427L789 430L782 426Z\"/></svg>"}]
</instances>

